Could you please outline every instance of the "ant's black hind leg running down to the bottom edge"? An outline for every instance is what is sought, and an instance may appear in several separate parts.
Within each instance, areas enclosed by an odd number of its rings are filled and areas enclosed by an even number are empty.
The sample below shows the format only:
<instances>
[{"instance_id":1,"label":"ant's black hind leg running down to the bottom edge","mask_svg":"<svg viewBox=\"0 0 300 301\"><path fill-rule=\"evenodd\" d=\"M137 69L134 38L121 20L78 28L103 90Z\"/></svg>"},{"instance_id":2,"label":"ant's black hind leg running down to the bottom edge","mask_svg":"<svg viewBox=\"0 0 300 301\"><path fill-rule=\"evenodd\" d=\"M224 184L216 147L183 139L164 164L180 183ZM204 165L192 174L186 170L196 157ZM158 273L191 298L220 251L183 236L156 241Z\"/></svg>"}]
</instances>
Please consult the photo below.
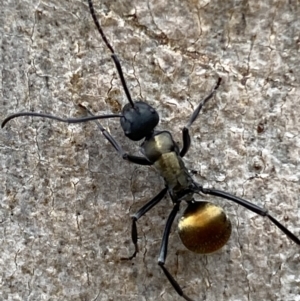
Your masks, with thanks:
<instances>
[{"instance_id":1,"label":"ant's black hind leg running down to the bottom edge","mask_svg":"<svg viewBox=\"0 0 300 301\"><path fill-rule=\"evenodd\" d=\"M163 234L163 239L162 239L161 246L160 246L158 265L161 267L161 269L165 273L166 277L168 278L169 282L172 284L172 286L175 289L175 291L177 292L177 294L179 296L183 297L187 301L193 301L192 299L190 299L183 293L182 288L180 287L178 282L174 279L174 277L170 274L170 272L165 267L165 261L166 261L167 252L168 252L169 235L170 235L173 221L179 211L179 205L180 205L180 202L177 202L175 204L175 206L173 207L173 209L168 217L167 224L166 224L164 234Z\"/></svg>"}]
</instances>

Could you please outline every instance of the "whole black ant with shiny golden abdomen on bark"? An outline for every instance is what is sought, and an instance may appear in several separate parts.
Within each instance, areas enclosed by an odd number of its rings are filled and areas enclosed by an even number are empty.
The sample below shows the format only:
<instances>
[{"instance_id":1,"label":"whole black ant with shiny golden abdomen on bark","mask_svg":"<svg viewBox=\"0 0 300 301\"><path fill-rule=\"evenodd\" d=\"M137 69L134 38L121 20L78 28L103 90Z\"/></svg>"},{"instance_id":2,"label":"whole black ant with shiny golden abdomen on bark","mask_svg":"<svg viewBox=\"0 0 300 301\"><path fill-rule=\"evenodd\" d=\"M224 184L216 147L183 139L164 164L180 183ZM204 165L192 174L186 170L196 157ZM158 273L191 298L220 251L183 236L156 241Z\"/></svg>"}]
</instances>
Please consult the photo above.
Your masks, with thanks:
<instances>
[{"instance_id":1,"label":"whole black ant with shiny golden abdomen on bark","mask_svg":"<svg viewBox=\"0 0 300 301\"><path fill-rule=\"evenodd\" d=\"M290 232L283 224L268 213L265 208L259 207L249 201L240 197L231 195L225 191L204 188L196 183L192 174L184 165L183 157L187 154L191 146L191 137L189 128L198 118L202 107L215 95L222 79L218 78L215 87L204 98L192 113L189 121L182 130L183 147L180 149L169 131L155 130L159 123L159 115L155 108L143 101L133 101L127 84L123 75L121 63L118 56L109 41L107 40L101 25L96 17L96 13L91 0L88 0L90 14L96 25L96 28L101 35L101 38L109 51L116 66L118 75L120 77L122 87L126 94L128 103L123 107L121 114L110 115L93 115L87 108L81 106L87 112L87 117L83 118L60 118L57 116L34 113L34 112L20 112L8 116L3 122L2 127L6 125L11 119L21 116L34 116L50 118L60 122L66 123L81 123L94 120L97 122L98 128L102 132L107 141L114 147L118 154L124 159L134 164L139 165L153 165L164 179L165 187L142 208L140 208L132 216L131 239L134 245L134 252L131 256L123 258L124 260L132 260L138 253L138 231L137 221L157 205L166 194L172 200L173 208L168 216L166 226L164 229L162 242L160 246L158 265L164 272L165 276L173 286L175 291L183 299L192 301L182 290L181 286L175 280L173 275L165 266L167 257L168 239L173 221L179 211L182 201L185 201L187 207L179 219L179 236L185 247L193 252L200 254L212 253L223 247L228 241L231 234L231 222L227 218L223 209L209 202L197 201L194 199L194 194L207 194L227 199L237 203L248 210L267 217L275 226L277 226L286 236L288 236L297 245L300 245L300 239ZM126 153L119 143L106 131L106 129L99 123L99 119L105 118L119 118L121 127L126 137L133 141L143 139L141 144L141 152L143 156L134 156Z\"/></svg>"}]
</instances>

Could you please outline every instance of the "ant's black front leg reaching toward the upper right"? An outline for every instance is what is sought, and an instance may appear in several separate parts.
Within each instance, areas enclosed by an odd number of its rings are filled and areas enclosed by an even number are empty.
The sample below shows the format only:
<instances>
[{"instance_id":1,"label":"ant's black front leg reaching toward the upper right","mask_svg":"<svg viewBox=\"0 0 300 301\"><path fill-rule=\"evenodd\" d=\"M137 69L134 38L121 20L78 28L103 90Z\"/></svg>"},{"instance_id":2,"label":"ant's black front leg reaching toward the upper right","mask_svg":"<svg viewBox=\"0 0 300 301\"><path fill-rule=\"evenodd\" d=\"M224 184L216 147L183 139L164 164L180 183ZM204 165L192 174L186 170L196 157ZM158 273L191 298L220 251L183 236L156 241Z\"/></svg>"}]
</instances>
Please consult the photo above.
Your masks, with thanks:
<instances>
[{"instance_id":1,"label":"ant's black front leg reaching toward the upper right","mask_svg":"<svg viewBox=\"0 0 300 301\"><path fill-rule=\"evenodd\" d=\"M191 146L191 137L189 134L189 128L193 124L193 122L197 119L202 107L207 103L208 100L210 100L214 94L216 93L217 89L219 88L221 84L221 77L219 77L217 84L213 88L213 90L210 92L208 96L206 96L197 106L195 111L193 112L192 116L190 117L188 123L186 126L182 129L182 140L183 140L183 147L180 151L180 157L184 157L184 155L188 152L190 146Z\"/></svg>"}]
</instances>

